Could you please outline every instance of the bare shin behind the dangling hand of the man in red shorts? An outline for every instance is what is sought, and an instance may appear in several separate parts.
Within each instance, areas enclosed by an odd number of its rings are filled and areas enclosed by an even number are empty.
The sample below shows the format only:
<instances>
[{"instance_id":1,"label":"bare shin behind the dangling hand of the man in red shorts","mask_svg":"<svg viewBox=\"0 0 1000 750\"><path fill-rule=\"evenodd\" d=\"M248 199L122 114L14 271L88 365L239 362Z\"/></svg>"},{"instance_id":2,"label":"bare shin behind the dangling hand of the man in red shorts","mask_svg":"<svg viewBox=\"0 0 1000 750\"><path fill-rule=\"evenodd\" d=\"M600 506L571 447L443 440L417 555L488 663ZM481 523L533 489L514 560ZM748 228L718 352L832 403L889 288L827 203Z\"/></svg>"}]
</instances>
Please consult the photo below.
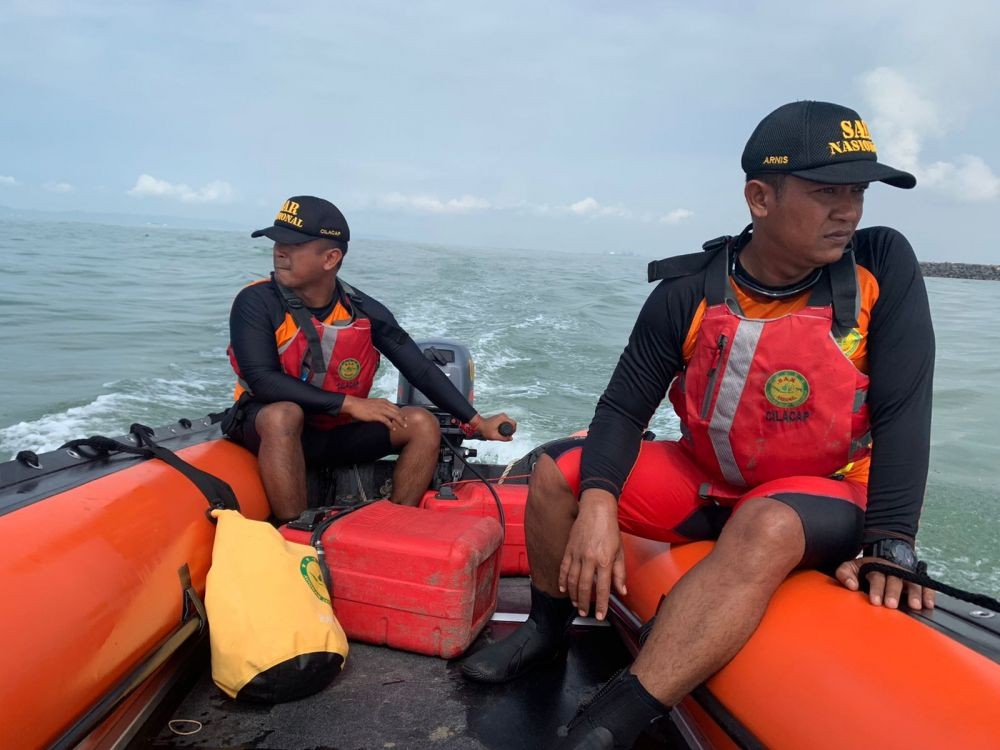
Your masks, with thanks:
<instances>
[{"instance_id":1,"label":"bare shin behind the dangling hand of the man in red shorts","mask_svg":"<svg viewBox=\"0 0 1000 750\"><path fill-rule=\"evenodd\" d=\"M549 596L566 596L559 592L559 565L579 510L566 477L556 462L543 454L531 472L524 533L531 582Z\"/></svg>"}]
</instances>

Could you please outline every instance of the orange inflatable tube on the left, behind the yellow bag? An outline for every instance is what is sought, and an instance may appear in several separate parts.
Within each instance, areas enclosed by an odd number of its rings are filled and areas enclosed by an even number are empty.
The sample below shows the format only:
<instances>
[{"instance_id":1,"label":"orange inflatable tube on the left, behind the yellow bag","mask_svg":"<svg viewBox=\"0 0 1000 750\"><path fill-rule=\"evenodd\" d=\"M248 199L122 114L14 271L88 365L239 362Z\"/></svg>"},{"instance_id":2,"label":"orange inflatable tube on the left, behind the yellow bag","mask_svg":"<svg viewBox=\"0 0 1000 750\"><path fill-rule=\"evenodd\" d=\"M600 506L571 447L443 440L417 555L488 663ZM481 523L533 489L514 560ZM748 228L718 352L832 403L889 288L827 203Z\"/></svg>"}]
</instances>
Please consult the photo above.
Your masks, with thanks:
<instances>
[{"instance_id":1,"label":"orange inflatable tube on the left, behind the yellow bag","mask_svg":"<svg viewBox=\"0 0 1000 750\"><path fill-rule=\"evenodd\" d=\"M266 517L256 460L211 420L156 438ZM0 738L72 747L204 629L215 527L201 491L159 460L80 447L0 472Z\"/></svg>"}]
</instances>

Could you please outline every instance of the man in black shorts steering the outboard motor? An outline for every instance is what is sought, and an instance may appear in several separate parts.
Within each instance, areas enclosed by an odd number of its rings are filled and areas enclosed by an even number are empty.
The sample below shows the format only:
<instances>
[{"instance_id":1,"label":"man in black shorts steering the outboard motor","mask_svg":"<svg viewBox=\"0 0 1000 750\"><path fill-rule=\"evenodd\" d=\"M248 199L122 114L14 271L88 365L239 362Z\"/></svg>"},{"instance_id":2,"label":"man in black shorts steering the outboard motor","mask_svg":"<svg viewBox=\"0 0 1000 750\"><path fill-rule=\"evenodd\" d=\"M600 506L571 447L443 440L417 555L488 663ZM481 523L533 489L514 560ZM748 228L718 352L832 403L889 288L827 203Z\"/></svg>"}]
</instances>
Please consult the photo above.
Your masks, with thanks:
<instances>
[{"instance_id":1,"label":"man in black shorts steering the outboard motor","mask_svg":"<svg viewBox=\"0 0 1000 750\"><path fill-rule=\"evenodd\" d=\"M506 414L484 418L392 313L337 278L350 229L329 201L285 201L273 226L274 273L244 288L229 318L229 357L239 378L229 437L257 454L278 520L306 509L306 464L350 465L398 453L390 498L416 505L437 463L440 428L426 409L369 398L381 352L467 435L510 440Z\"/></svg>"}]
</instances>

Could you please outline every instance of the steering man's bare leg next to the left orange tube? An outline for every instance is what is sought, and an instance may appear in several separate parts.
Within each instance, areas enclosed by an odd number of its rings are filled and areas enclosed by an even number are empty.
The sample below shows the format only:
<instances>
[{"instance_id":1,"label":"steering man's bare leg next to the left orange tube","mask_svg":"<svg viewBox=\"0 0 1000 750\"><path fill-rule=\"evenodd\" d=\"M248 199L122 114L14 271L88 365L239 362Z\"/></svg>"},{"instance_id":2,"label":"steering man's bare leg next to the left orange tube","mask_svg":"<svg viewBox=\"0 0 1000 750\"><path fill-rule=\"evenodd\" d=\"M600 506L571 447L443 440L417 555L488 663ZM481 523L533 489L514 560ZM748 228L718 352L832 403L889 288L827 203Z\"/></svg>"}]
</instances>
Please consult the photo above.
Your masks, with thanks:
<instances>
[{"instance_id":1,"label":"steering man's bare leg next to the left orange tube","mask_svg":"<svg viewBox=\"0 0 1000 750\"><path fill-rule=\"evenodd\" d=\"M282 521L306 509L306 460L302 454L301 407L290 401L268 404L259 412L254 428L260 436L257 463L271 512Z\"/></svg>"}]
</instances>

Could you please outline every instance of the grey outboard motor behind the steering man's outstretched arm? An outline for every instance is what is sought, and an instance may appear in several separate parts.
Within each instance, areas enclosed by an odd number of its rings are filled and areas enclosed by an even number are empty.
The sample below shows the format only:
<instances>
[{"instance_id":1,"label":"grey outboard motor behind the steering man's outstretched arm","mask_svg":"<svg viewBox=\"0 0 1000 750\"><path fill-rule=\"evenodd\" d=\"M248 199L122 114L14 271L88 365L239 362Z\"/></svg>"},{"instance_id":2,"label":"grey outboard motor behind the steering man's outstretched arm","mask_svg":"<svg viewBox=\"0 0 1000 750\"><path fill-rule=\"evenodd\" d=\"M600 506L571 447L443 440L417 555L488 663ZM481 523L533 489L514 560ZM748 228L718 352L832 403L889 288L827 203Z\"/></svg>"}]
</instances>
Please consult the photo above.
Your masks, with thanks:
<instances>
[{"instance_id":1,"label":"grey outboard motor behind the steering man's outstretched arm","mask_svg":"<svg viewBox=\"0 0 1000 750\"><path fill-rule=\"evenodd\" d=\"M441 368L463 396L472 403L473 383L476 379L476 367L472 362L469 347L452 339L431 339L417 341L417 346L427 359ZM461 451L464 458L476 455L475 448L462 446L465 435L458 425L452 424L452 415L439 410L427 396L414 388L402 373L399 376L399 387L396 390L396 403L400 406L422 406L438 419L441 427L441 451L438 454L437 470L431 480L431 488L438 489L443 483L458 481L462 476L462 464L455 461L454 451Z\"/></svg>"}]
</instances>

